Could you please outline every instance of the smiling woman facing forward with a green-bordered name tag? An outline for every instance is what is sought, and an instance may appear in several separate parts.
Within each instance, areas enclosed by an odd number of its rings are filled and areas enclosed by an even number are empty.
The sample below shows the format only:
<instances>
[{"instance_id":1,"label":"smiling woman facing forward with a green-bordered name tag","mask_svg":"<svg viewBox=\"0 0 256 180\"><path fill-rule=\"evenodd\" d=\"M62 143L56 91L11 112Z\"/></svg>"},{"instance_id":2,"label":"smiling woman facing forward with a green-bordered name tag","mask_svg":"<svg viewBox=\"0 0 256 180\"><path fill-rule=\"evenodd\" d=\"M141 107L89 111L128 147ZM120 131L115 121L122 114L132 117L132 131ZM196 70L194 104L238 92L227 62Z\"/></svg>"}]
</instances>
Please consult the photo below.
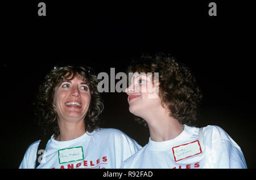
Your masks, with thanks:
<instances>
[{"instance_id":1,"label":"smiling woman facing forward with a green-bordered name tag","mask_svg":"<svg viewBox=\"0 0 256 180\"><path fill-rule=\"evenodd\" d=\"M19 168L119 168L141 148L119 130L99 128L104 105L97 85L89 67L49 72L39 88L35 115L51 138L43 155L40 140L32 143Z\"/></svg>"}]
</instances>

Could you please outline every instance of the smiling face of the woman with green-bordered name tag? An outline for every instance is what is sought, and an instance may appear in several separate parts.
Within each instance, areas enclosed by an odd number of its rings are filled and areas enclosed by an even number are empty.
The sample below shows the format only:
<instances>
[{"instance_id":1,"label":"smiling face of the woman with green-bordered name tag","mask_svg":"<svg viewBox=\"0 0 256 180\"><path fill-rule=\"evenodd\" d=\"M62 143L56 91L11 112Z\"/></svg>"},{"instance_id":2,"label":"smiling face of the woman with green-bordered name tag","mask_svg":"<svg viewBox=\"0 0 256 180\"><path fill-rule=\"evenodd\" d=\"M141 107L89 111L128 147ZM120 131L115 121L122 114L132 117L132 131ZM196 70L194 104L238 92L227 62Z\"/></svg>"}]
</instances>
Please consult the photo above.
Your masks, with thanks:
<instances>
[{"instance_id":1,"label":"smiling face of the woman with green-bordered name tag","mask_svg":"<svg viewBox=\"0 0 256 180\"><path fill-rule=\"evenodd\" d=\"M54 104L59 119L84 119L90 105L90 89L80 76L55 88Z\"/></svg>"}]
</instances>

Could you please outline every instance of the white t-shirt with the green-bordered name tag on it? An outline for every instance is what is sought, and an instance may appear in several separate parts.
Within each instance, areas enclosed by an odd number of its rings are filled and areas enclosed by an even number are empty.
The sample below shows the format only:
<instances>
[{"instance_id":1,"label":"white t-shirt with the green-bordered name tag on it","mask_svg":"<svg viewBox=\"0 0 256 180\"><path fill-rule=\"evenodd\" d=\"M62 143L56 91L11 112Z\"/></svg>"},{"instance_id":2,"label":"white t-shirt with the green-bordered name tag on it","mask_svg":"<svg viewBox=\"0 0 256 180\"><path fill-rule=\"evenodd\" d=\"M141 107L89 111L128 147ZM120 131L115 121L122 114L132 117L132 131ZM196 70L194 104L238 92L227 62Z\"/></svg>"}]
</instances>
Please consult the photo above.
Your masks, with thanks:
<instances>
[{"instance_id":1,"label":"white t-shirt with the green-bordered name tag on it","mask_svg":"<svg viewBox=\"0 0 256 180\"><path fill-rule=\"evenodd\" d=\"M35 168L39 142L28 147L19 168ZM114 128L100 128L64 142L55 140L52 135L38 168L119 168L139 149L141 145Z\"/></svg>"}]
</instances>

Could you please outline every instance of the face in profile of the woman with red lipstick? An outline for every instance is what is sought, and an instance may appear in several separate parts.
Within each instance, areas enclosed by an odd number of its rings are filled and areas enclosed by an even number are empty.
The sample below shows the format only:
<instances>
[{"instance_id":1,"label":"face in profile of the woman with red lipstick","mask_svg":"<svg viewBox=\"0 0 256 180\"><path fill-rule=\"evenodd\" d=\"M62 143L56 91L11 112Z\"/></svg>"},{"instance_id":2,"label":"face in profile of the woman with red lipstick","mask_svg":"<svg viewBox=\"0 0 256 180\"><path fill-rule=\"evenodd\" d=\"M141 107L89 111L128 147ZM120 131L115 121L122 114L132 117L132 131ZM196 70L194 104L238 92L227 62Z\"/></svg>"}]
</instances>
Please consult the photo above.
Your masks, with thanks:
<instances>
[{"instance_id":1,"label":"face in profile of the woman with red lipstick","mask_svg":"<svg viewBox=\"0 0 256 180\"><path fill-rule=\"evenodd\" d=\"M153 80L152 75L135 72L130 79L130 86L126 88L129 111L138 117L144 118L161 106L158 96L159 83L156 81L152 83Z\"/></svg>"}]
</instances>

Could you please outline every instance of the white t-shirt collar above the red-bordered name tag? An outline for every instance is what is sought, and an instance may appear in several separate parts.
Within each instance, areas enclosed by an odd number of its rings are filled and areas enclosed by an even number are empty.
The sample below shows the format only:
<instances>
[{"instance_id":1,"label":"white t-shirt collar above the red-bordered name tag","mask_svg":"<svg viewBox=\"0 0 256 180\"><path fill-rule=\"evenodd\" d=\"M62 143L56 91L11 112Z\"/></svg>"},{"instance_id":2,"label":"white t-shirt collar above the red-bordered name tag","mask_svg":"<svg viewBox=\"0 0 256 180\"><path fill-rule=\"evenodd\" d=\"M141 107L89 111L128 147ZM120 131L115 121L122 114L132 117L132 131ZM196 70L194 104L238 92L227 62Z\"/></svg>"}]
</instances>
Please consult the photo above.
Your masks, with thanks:
<instances>
[{"instance_id":1,"label":"white t-shirt collar above the red-bordered name tag","mask_svg":"<svg viewBox=\"0 0 256 180\"><path fill-rule=\"evenodd\" d=\"M195 127L184 125L184 130L174 139L166 140L163 142L154 142L151 140L151 138L149 138L147 148L151 151L166 151L170 149L171 145L180 145L182 142L187 142L187 140L189 140L194 134L194 131Z\"/></svg>"}]
</instances>

